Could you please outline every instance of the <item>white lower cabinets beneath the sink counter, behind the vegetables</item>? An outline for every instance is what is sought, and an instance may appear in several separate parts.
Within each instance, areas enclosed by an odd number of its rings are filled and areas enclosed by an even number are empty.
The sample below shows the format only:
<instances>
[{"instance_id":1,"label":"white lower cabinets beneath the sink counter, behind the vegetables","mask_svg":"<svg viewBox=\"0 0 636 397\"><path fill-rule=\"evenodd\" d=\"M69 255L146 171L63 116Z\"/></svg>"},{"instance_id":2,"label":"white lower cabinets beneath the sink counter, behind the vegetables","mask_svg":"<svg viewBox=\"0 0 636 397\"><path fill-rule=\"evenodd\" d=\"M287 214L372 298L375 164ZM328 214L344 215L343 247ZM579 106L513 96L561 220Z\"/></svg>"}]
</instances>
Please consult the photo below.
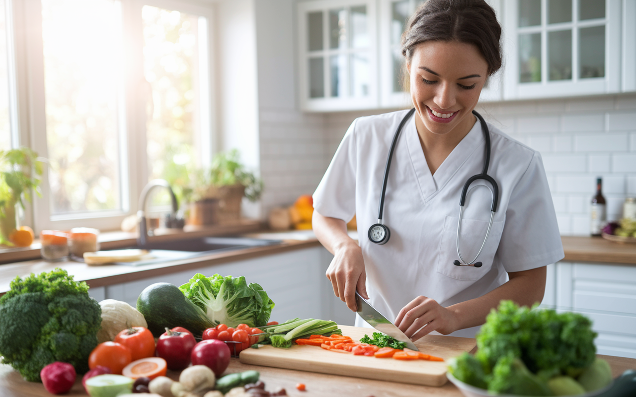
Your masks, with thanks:
<instances>
[{"instance_id":1,"label":"white lower cabinets beneath the sink counter, behind the vegetables","mask_svg":"<svg viewBox=\"0 0 636 397\"><path fill-rule=\"evenodd\" d=\"M322 246L304 248L259 258L228 262L191 271L179 271L154 278L118 285L91 288L96 300L116 299L137 306L139 294L153 283L182 285L197 273L212 276L245 276L248 283L258 283L273 300L272 320L322 318L342 325L354 325L355 314L333 295L325 272L333 257Z\"/></svg>"}]
</instances>

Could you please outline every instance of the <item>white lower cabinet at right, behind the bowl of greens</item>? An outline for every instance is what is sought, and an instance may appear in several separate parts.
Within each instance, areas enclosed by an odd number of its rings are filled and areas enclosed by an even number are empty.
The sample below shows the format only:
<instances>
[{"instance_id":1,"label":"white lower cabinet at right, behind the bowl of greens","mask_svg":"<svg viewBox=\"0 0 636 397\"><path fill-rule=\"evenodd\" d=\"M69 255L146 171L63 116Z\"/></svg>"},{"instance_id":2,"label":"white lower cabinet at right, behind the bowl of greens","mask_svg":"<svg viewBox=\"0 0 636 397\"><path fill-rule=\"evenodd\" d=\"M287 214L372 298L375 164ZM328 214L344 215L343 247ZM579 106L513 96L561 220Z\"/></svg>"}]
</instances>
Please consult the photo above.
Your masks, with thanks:
<instances>
[{"instance_id":1,"label":"white lower cabinet at right, behind the bowl of greens","mask_svg":"<svg viewBox=\"0 0 636 397\"><path fill-rule=\"evenodd\" d=\"M636 266L550 265L543 306L588 316L598 354L636 358Z\"/></svg>"}]
</instances>

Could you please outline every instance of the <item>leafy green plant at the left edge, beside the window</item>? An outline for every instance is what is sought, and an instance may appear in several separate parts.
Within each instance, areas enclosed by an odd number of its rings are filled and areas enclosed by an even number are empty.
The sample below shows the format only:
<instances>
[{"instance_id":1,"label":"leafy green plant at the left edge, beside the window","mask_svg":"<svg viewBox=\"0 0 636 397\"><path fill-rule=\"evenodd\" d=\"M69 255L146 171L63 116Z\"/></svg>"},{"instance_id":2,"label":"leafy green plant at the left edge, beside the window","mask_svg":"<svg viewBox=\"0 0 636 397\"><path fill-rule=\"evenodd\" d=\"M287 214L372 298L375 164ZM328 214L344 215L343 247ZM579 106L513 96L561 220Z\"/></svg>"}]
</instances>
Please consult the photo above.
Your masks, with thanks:
<instances>
[{"instance_id":1,"label":"leafy green plant at the left edge, beside the window","mask_svg":"<svg viewBox=\"0 0 636 397\"><path fill-rule=\"evenodd\" d=\"M0 151L0 243L12 245L9 235L16 229L15 206L24 209L31 189L38 196L44 163L28 147Z\"/></svg>"}]
</instances>

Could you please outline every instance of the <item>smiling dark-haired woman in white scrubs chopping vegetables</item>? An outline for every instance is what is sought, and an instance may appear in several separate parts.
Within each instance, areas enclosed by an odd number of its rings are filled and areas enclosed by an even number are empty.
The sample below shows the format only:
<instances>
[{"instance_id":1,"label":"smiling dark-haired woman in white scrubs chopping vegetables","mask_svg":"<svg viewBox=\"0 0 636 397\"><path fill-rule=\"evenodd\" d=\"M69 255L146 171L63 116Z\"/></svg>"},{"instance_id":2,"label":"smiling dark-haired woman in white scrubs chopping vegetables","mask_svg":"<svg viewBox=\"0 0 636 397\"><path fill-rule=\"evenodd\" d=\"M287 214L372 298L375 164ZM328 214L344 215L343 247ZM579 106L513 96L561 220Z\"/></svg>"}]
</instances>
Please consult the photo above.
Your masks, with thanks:
<instances>
[{"instance_id":1,"label":"smiling dark-haired woman in white scrubs chopping vegetables","mask_svg":"<svg viewBox=\"0 0 636 397\"><path fill-rule=\"evenodd\" d=\"M415 113L391 161L387 243L370 241L368 230L378 222L389 148L408 110L354 120L314 193L314 231L334 255L326 276L336 297L355 311L357 289L412 340L434 331L474 336L502 299L541 302L546 266L563 259L541 156L488 124L488 175L499 185L499 204L476 259L483 266L453 264L462 188L481 173L486 157L471 112L487 77L501 67L500 37L483 0L429 0L411 17L402 53ZM474 181L459 236L466 260L480 250L491 203L490 184ZM354 215L357 242L346 228Z\"/></svg>"}]
</instances>

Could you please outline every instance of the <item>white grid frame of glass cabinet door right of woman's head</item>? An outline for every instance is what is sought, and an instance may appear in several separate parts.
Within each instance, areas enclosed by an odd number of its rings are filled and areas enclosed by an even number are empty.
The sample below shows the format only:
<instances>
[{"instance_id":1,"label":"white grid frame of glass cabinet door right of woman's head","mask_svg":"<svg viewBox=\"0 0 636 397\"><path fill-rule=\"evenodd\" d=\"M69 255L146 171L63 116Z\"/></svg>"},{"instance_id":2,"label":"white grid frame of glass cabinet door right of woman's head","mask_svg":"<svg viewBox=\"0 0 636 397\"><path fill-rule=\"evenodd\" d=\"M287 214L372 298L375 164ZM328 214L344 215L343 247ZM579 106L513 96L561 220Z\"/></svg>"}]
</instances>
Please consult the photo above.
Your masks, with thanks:
<instances>
[{"instance_id":1,"label":"white grid frame of glass cabinet door right of woman's head","mask_svg":"<svg viewBox=\"0 0 636 397\"><path fill-rule=\"evenodd\" d=\"M508 65L504 71L503 99L525 99L546 97L571 97L577 95L595 95L618 93L621 91L621 0L605 0L605 76L579 79L578 77L578 31L580 27L596 26L600 18L563 24L547 24L547 0L541 0L541 25L537 27L518 27L518 0L504 2L504 30L508 32L505 40L505 52ZM573 0L572 13L578 14L579 0ZM570 26L570 27L567 27ZM553 30L570 29L572 31L572 79L562 81L548 80L547 35ZM541 81L519 83L518 37L523 32L541 32Z\"/></svg>"}]
</instances>

